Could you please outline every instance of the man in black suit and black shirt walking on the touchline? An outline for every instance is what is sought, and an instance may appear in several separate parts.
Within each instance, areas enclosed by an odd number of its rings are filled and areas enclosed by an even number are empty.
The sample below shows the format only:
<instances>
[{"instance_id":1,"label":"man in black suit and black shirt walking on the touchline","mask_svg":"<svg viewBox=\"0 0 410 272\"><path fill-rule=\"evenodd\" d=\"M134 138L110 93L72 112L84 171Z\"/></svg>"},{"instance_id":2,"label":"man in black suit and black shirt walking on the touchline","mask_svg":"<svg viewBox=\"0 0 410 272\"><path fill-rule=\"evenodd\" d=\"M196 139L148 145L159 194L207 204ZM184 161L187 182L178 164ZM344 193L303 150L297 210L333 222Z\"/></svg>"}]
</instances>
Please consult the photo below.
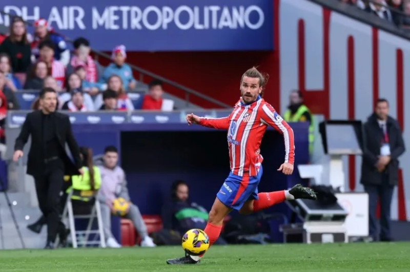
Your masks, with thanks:
<instances>
[{"instance_id":1,"label":"man in black suit and black shirt walking on the touchline","mask_svg":"<svg viewBox=\"0 0 410 272\"><path fill-rule=\"evenodd\" d=\"M28 154L27 174L35 180L38 204L47 219L46 248L54 248L59 231L59 193L64 175L83 175L77 142L71 131L67 115L55 112L57 94L51 88L40 92L42 110L26 116L22 130L14 145L13 160L23 157L23 148L29 135L31 147ZM66 142L75 164L65 151Z\"/></svg>"}]
</instances>

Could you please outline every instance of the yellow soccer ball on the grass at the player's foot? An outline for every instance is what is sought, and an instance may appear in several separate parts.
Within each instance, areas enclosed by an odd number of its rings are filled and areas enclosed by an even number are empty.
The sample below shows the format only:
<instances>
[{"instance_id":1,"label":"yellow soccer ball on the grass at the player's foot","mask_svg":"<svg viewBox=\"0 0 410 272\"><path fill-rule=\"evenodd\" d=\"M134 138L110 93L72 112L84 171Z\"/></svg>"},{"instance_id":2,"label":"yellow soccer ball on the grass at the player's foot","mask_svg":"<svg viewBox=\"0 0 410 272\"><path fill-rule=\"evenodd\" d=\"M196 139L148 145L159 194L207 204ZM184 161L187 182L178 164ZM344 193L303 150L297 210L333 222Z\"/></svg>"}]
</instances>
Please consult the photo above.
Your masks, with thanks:
<instances>
[{"instance_id":1,"label":"yellow soccer ball on the grass at the player's foot","mask_svg":"<svg viewBox=\"0 0 410 272\"><path fill-rule=\"evenodd\" d=\"M202 255L209 248L208 235L200 229L190 229L182 236L182 248L189 255Z\"/></svg>"}]
</instances>

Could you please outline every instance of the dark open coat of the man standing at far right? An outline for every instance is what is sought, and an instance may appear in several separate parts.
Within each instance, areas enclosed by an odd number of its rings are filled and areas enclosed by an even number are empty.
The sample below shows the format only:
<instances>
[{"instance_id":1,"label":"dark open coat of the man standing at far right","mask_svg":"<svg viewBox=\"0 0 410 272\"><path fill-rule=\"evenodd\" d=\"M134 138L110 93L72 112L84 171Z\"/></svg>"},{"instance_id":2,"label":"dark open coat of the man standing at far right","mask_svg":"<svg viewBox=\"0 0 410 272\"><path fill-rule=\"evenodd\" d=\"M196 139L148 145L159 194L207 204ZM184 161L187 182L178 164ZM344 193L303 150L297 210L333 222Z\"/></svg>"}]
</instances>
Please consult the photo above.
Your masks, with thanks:
<instances>
[{"instance_id":1,"label":"dark open coat of the man standing at far right","mask_svg":"<svg viewBox=\"0 0 410 272\"><path fill-rule=\"evenodd\" d=\"M388 116L386 124L391 161L387 164L385 173L388 174L389 184L396 185L399 172L398 158L404 153L405 147L399 123ZM372 114L364 124L364 150L360 179L364 185L382 184L382 173L377 171L376 163L380 155L380 145L383 137L376 114Z\"/></svg>"}]
</instances>

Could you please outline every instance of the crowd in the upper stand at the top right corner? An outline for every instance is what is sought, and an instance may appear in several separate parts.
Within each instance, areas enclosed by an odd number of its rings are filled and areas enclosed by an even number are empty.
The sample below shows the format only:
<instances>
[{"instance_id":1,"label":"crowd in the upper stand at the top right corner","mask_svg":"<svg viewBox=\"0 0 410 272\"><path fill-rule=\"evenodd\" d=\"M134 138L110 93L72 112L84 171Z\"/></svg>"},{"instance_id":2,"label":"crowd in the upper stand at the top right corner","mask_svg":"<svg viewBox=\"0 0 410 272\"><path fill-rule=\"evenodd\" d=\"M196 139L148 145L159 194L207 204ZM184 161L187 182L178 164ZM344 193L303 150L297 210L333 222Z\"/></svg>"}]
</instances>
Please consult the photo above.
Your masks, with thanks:
<instances>
[{"instance_id":1,"label":"crowd in the upper stand at the top right corner","mask_svg":"<svg viewBox=\"0 0 410 272\"><path fill-rule=\"evenodd\" d=\"M410 29L410 0L340 0L370 12L402 29Z\"/></svg>"}]
</instances>

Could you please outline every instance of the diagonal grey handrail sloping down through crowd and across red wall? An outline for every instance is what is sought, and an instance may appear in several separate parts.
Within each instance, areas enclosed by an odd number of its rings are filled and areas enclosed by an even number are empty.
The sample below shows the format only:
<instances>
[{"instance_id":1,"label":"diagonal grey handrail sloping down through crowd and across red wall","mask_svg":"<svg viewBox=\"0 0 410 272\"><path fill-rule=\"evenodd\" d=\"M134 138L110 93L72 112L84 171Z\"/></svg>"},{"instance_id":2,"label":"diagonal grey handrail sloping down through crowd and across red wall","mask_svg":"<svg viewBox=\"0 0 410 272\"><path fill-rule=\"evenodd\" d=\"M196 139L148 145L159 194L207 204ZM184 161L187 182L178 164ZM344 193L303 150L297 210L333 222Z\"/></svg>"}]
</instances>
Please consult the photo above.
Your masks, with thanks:
<instances>
[{"instance_id":1,"label":"diagonal grey handrail sloping down through crowd and across red wall","mask_svg":"<svg viewBox=\"0 0 410 272\"><path fill-rule=\"evenodd\" d=\"M8 13L8 12L4 12L4 11L2 11L2 10L0 10L0 14L8 15L8 16L10 16L10 17L19 17L19 16L17 16L17 15L13 15L13 14L10 14L10 13ZM20 17L20 18L21 18L21 17ZM22 18L22 19L23 19L23 18ZM27 25L29 25L29 26L32 26L32 25L33 25L32 23L29 23L29 22L25 21L24 19L23 19L23 21L25 22L25 24L27 24ZM68 41L69 43L73 43L73 40L72 40L71 38L65 37L65 40ZM94 53L95 55L98 55L98 56L101 56L101 57L105 57L105 58L111 59L111 56L110 56L109 54L104 53L104 52L101 52L101 51L98 51L98 50L94 50L94 49L92 49L91 52ZM179 84L179 83L177 83L177 82L175 82L175 81L172 81L172 80L169 80L169 79L167 79L167 78L165 78L165 77L162 77L162 76L159 76L159 75L157 75L157 74L154 74L153 72L147 71L147 70L145 70L145 69L142 69L142 68L140 68L140 67L138 67L138 66L135 66L135 65L133 65L133 64L130 64L130 63L128 63L128 62L126 62L126 64L128 64L128 65L131 67L131 69L134 70L134 71L137 71L137 72L139 72L139 73L141 73L141 74L148 75L148 76L150 76L150 77L159 79L159 80L161 80L162 82L167 83L168 85L171 85L171 86L173 86L173 87L175 87L175 88L177 88L177 89L179 89L179 90L184 91L184 92L185 92L185 99L186 99L187 102L189 102L189 95L192 94L192 95L194 95L194 96L197 96L197 97L199 97L199 98L202 98L203 100L206 100L206 101L208 101L208 102L214 103L215 105L218 105L218 106L220 106L220 107L222 107L222 108L232 108L232 106L230 106L230 105L228 105L228 104L226 104L226 103L223 103L223 102L221 102L221 101L219 101L219 100L216 100L215 98L212 98L212 97L210 97L210 96L208 96L208 95L201 94L201 93L199 93L199 92L197 92L197 91L195 91L195 90L193 90L193 89L191 89L191 88L185 87L185 86L183 86L183 85L181 85L181 84Z\"/></svg>"}]
</instances>

